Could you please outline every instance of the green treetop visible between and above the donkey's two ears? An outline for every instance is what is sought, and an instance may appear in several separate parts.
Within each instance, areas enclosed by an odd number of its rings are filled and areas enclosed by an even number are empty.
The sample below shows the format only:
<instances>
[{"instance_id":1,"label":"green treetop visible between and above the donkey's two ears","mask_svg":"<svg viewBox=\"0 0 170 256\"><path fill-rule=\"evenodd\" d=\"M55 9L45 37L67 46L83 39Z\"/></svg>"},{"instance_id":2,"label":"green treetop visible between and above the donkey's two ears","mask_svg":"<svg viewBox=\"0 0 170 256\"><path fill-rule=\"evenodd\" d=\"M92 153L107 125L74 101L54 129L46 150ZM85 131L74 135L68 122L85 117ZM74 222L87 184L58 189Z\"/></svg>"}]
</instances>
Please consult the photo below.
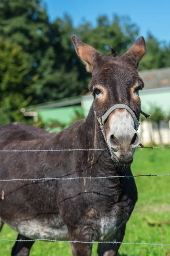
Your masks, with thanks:
<instances>
[{"instance_id":1,"label":"green treetop visible between and above the donkey's two ears","mask_svg":"<svg viewBox=\"0 0 170 256\"><path fill-rule=\"evenodd\" d=\"M77 30L83 42L92 45L102 54L111 53L109 44L118 54L125 53L139 34L138 26L129 17L118 15L113 15L112 20L105 15L99 16L96 27L91 23L84 23Z\"/></svg>"}]
</instances>

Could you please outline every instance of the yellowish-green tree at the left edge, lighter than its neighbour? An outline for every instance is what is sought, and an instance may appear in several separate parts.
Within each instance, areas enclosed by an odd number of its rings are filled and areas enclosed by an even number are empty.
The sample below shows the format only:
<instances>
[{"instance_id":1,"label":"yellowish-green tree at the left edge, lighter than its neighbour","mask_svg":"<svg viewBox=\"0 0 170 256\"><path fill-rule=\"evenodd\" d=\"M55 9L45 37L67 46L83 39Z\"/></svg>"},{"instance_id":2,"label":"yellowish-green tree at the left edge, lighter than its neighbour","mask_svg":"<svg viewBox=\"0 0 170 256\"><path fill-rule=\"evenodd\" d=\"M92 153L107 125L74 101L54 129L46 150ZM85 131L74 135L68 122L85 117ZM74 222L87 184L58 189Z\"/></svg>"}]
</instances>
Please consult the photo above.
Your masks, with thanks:
<instances>
[{"instance_id":1,"label":"yellowish-green tree at the left edge, lighter than its neighbour","mask_svg":"<svg viewBox=\"0 0 170 256\"><path fill-rule=\"evenodd\" d=\"M31 100L24 97L27 89L24 80L29 70L21 48L0 40L0 125L24 121L20 108Z\"/></svg>"}]
</instances>

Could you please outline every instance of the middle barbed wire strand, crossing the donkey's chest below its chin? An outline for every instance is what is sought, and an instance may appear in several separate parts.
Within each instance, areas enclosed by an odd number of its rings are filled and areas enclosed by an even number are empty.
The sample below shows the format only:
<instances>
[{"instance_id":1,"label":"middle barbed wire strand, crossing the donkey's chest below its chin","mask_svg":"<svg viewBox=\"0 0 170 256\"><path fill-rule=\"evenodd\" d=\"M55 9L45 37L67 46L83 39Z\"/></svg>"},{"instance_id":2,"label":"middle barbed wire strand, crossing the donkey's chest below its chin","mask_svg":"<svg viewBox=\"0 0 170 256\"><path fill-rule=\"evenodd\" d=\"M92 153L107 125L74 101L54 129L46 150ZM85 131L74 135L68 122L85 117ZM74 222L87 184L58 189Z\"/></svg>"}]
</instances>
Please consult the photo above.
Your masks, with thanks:
<instances>
[{"instance_id":1,"label":"middle barbed wire strand, crossing the donkey's chest below its chin","mask_svg":"<svg viewBox=\"0 0 170 256\"><path fill-rule=\"evenodd\" d=\"M169 176L170 174L143 174L143 175L116 175L116 176L103 176L103 177L69 177L69 178L35 178L35 179L20 179L20 178L14 178L14 179L0 179L0 181L37 181L37 180L96 180L96 179L108 179L108 178L133 178L133 177L153 177L153 176Z\"/></svg>"}]
</instances>

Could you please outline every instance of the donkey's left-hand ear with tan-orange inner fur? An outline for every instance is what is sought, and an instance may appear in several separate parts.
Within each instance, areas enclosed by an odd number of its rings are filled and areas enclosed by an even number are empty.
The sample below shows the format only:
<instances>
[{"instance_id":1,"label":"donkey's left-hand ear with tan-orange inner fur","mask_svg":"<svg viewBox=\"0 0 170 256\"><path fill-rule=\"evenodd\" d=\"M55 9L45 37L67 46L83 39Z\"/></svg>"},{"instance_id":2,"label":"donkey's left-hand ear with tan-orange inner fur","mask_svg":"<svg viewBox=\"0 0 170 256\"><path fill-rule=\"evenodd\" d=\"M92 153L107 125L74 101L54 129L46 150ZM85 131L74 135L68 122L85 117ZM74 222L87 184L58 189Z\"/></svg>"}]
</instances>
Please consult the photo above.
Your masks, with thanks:
<instances>
[{"instance_id":1,"label":"donkey's left-hand ear with tan-orange inner fur","mask_svg":"<svg viewBox=\"0 0 170 256\"><path fill-rule=\"evenodd\" d=\"M87 71L91 73L94 67L94 60L96 58L96 55L101 55L101 53L96 51L93 47L84 44L77 37L77 35L72 35L71 40L73 41L77 54L82 59L83 63L86 65Z\"/></svg>"}]
</instances>

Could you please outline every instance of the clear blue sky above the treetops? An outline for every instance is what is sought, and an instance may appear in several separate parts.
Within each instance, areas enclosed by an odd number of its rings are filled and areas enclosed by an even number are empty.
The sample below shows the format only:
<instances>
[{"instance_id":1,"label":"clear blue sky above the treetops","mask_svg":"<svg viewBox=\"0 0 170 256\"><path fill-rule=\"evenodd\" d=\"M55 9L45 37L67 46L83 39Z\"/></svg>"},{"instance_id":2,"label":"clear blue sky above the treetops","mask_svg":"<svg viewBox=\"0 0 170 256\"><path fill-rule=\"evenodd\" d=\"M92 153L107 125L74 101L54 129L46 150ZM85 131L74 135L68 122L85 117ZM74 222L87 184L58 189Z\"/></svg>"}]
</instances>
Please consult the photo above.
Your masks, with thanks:
<instances>
[{"instance_id":1,"label":"clear blue sky above the treetops","mask_svg":"<svg viewBox=\"0 0 170 256\"><path fill-rule=\"evenodd\" d=\"M114 13L130 16L139 25L140 35L150 31L160 41L170 42L170 0L45 0L53 21L68 13L77 26L82 19L96 24L96 17Z\"/></svg>"}]
</instances>

